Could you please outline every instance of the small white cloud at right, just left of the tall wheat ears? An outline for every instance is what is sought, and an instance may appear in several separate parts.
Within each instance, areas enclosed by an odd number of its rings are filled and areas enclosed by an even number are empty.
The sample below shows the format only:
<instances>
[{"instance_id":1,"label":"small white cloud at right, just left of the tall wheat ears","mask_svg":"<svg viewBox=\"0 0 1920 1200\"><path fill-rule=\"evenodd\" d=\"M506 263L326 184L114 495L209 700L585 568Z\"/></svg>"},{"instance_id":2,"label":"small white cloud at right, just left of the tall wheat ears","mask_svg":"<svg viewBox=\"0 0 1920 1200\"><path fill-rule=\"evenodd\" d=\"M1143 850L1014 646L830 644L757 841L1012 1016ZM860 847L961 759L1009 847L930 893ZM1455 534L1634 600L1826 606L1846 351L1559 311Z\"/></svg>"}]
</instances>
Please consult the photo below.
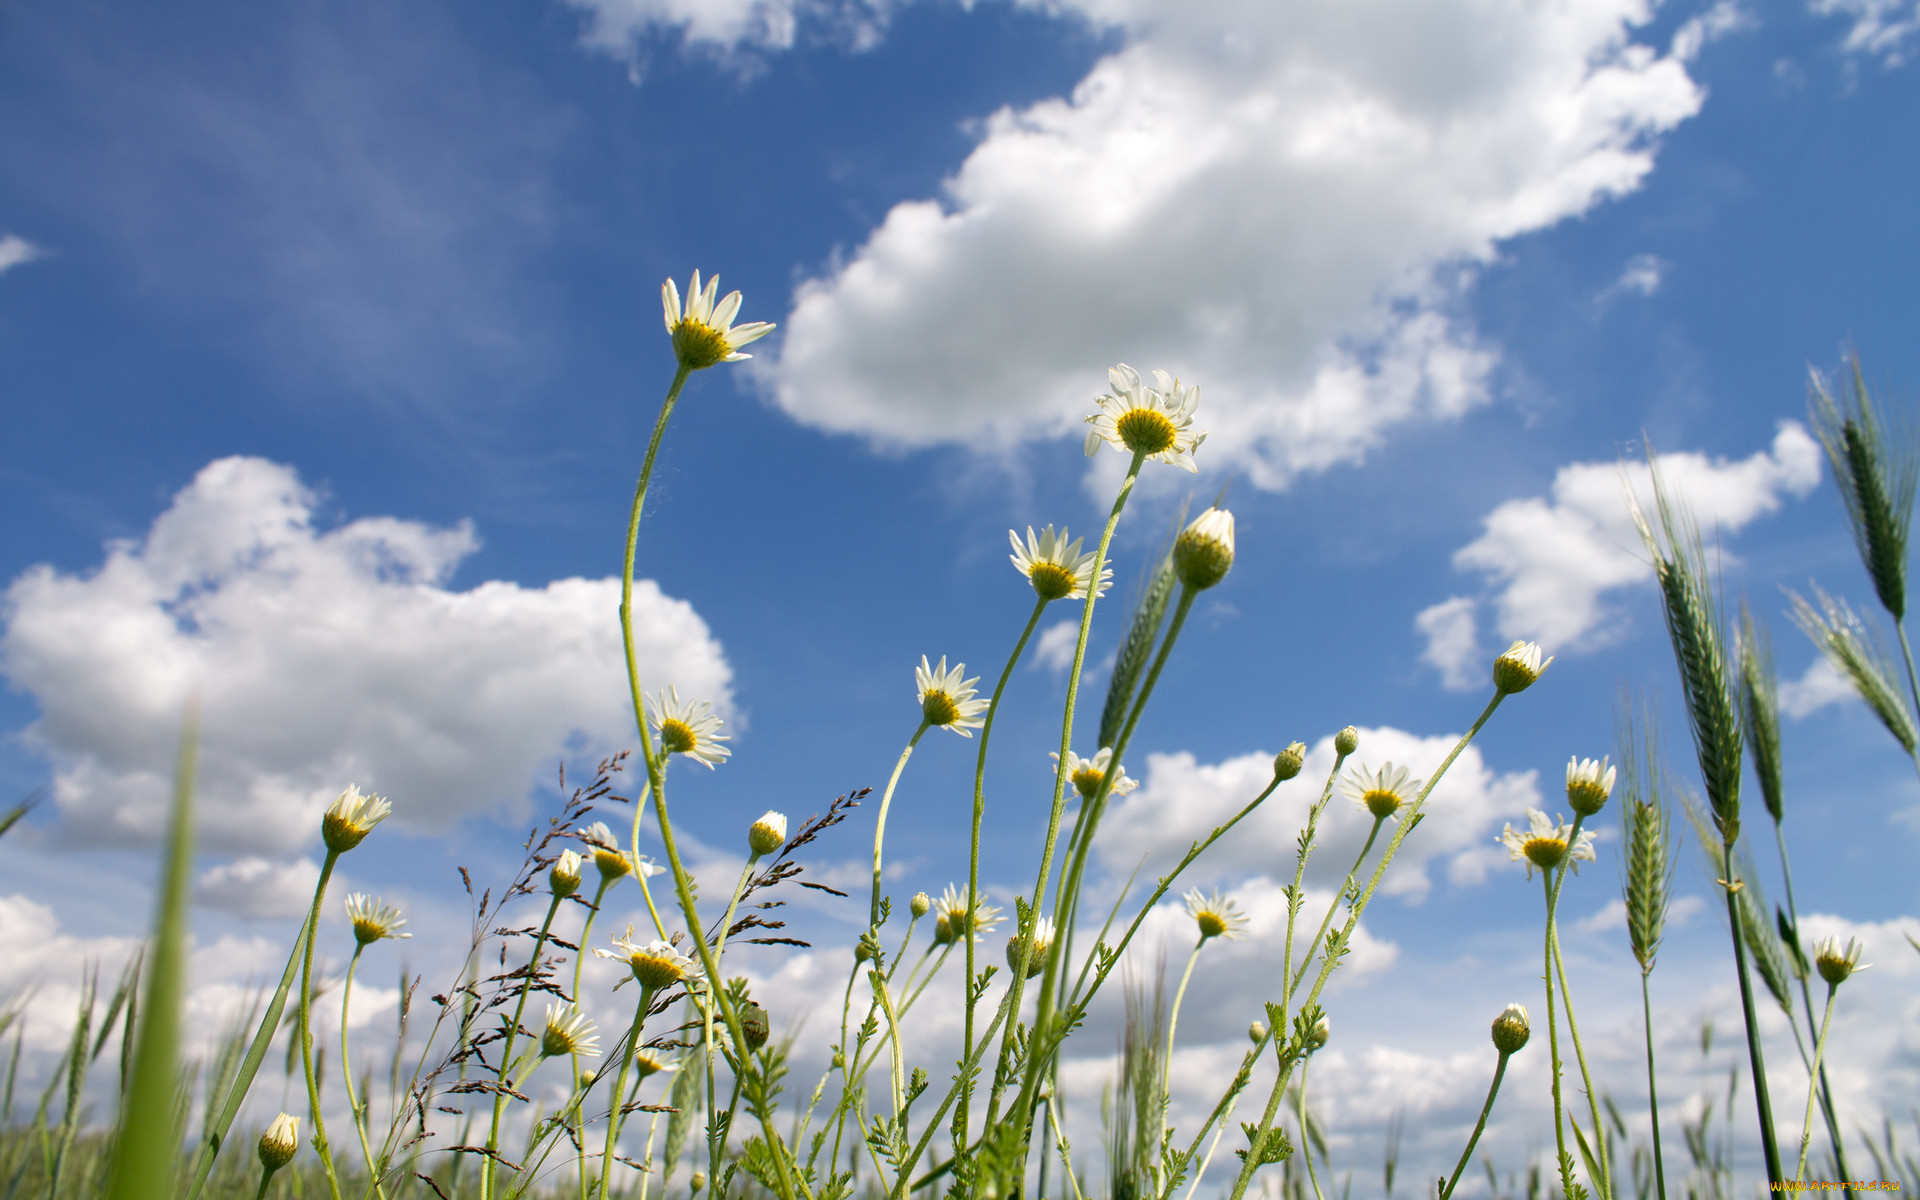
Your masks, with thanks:
<instances>
[{"instance_id":1,"label":"small white cloud at right, just left of the tall wheat ears","mask_svg":"<svg viewBox=\"0 0 1920 1200\"><path fill-rule=\"evenodd\" d=\"M1711 538L1740 532L1788 497L1812 492L1820 447L1799 422L1782 420L1770 449L1740 461L1667 453L1659 470ZM1461 649L1480 599L1492 603L1501 637L1540 641L1553 653L1597 649L1617 634L1607 593L1653 578L1626 488L1651 505L1645 463L1569 463L1553 474L1549 495L1509 499L1486 515L1482 534L1453 553L1453 566L1480 572L1488 593L1452 597L1415 618L1427 639L1423 659L1450 687L1480 682L1467 676Z\"/></svg>"}]
</instances>

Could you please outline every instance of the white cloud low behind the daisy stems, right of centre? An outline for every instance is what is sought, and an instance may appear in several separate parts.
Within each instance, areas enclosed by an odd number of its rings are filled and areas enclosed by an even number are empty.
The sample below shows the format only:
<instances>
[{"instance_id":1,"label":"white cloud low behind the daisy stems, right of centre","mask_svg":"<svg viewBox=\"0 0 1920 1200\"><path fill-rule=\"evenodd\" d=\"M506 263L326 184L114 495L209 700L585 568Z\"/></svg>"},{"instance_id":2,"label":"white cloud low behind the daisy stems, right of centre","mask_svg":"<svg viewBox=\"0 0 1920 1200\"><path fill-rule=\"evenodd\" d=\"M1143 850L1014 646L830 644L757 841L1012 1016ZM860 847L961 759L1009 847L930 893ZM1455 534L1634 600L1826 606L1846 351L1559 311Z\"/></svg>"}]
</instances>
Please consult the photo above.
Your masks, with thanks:
<instances>
[{"instance_id":1,"label":"white cloud low behind the daisy stems, right of centre","mask_svg":"<svg viewBox=\"0 0 1920 1200\"><path fill-rule=\"evenodd\" d=\"M1348 770L1394 762L1409 768L1413 778L1425 778L1453 743L1453 735L1419 737L1392 728L1361 730L1359 751L1348 760ZM1304 770L1281 783L1265 804L1235 828L1233 835L1217 841L1188 870L1190 881L1244 879L1271 872L1277 860L1290 864L1294 835L1306 826L1308 808L1319 799L1332 760L1332 737L1321 737L1308 753ZM1114 804L1100 822L1094 847L1110 870L1125 874L1144 858L1142 877L1164 874L1188 845L1238 812L1271 780L1273 755L1267 753L1212 764L1202 764L1185 751L1148 755L1146 778L1139 791ZM1496 774L1480 758L1480 749L1469 745L1434 787L1427 806L1446 820L1423 822L1407 837L1380 883L1388 895L1425 897L1432 885L1427 866L1434 862L1446 862L1450 877L1457 883L1480 881L1486 876L1486 862L1476 851L1492 847L1501 822L1519 820L1528 806L1540 806L1536 772ZM1321 816L1317 849L1308 860L1308 883L1338 889L1371 826L1373 818L1336 793ZM1384 845L1388 831L1382 829L1380 837L1379 845ZM1379 847L1375 856L1377 852ZM1369 870L1371 860L1369 856Z\"/></svg>"}]
</instances>

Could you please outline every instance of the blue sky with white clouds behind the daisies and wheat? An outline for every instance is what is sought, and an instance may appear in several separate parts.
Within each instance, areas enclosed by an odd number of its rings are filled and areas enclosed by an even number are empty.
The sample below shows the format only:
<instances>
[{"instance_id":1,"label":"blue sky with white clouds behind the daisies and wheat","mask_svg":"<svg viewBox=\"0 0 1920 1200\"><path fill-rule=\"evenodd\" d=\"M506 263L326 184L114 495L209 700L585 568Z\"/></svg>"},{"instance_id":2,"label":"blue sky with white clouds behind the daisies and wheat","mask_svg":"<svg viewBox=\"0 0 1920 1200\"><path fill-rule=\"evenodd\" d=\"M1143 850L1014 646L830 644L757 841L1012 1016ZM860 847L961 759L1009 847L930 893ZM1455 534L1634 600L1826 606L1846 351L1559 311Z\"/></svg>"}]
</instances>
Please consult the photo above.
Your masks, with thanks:
<instances>
[{"instance_id":1,"label":"blue sky with white clouds behind the daisies and wheat","mask_svg":"<svg viewBox=\"0 0 1920 1200\"><path fill-rule=\"evenodd\" d=\"M649 680L735 732L722 770L676 778L710 870L764 808L885 781L920 655L991 682L1031 603L1006 530L1096 532L1117 457L1085 459L1079 419L1110 363L1175 371L1212 438L1198 478L1144 478L1119 599L1188 495L1229 488L1238 563L1142 726L1112 876L1204 831L1292 739L1352 722L1361 760L1419 774L1509 637L1559 655L1369 912L1379 954L1315 1071L1356 1187L1396 1108L1417 1177L1457 1154L1486 1021L1538 1002L1536 895L1492 835L1559 803L1569 755L1611 749L1620 689L1663 705L1688 762L1619 499L1651 442L1774 626L1801 908L1880 962L1843 993L1845 1104L1905 1112L1920 804L1897 747L1809 674L1780 588L1870 603L1784 422L1849 340L1897 403L1920 382L1916 23L1885 0L8 8L0 787L56 799L0 841L21 947L0 985L40 981L56 1021L73 962L144 927L194 682L204 1002L288 935L305 829L349 780L396 803L349 883L409 908L419 966L449 952L453 864L503 870L557 760L626 735L607 580L672 372L657 292L703 269L781 326L689 386L643 534ZM1021 666L995 737L1000 902L1031 879L1062 672ZM931 737L908 770L902 895L964 876L972 751ZM1194 881L1271 900L1277 808ZM816 870L858 874L864 839ZM1634 1108L1609 854L1569 900L1596 918L1572 952ZM1680 891L1707 895L1692 856ZM856 916L806 920L822 952L760 977L843 970ZM1724 960L1711 908L1676 929L1655 973L1674 1054L1707 1014L1730 1041ZM1231 948L1183 1018L1177 1110L1236 1052L1260 962ZM1110 1071L1102 1020L1081 1096ZM1784 1033L1772 1054L1797 1112ZM1551 1140L1544 1069L1517 1071L1492 1135L1515 1165Z\"/></svg>"}]
</instances>

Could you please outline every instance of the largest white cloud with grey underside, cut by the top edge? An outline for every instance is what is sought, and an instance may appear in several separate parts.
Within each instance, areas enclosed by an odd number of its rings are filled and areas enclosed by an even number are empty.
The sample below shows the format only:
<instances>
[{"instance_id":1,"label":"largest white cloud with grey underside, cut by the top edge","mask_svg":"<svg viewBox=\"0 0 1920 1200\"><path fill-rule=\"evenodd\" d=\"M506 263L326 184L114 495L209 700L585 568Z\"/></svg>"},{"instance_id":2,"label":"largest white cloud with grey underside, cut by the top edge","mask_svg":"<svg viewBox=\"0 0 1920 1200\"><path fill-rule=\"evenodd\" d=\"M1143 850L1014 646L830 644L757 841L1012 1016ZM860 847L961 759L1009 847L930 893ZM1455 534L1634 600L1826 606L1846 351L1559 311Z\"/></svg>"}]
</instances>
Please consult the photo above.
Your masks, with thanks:
<instances>
[{"instance_id":1,"label":"largest white cloud with grey underside, cut by the top edge","mask_svg":"<svg viewBox=\"0 0 1920 1200\"><path fill-rule=\"evenodd\" d=\"M1200 382L1202 455L1281 488L1482 403L1453 267L1632 192L1701 102L1630 42L1642 0L1050 10L1127 44L799 288L756 361L797 420L1062 436L1125 359Z\"/></svg>"}]
</instances>

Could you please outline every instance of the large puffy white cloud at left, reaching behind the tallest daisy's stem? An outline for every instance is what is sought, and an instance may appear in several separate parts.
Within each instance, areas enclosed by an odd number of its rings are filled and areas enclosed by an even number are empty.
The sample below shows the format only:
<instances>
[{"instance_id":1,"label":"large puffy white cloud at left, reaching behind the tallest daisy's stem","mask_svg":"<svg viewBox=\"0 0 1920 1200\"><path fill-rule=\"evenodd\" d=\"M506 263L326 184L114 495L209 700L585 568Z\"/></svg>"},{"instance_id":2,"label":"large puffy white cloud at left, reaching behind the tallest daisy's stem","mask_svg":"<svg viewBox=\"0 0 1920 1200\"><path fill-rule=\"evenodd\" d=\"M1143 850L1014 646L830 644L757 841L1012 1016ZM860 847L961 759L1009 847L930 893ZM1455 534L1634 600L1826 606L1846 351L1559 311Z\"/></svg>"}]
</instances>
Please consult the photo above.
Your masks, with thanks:
<instances>
[{"instance_id":1,"label":"large puffy white cloud at left, reaching behind the tallest daisy's stem","mask_svg":"<svg viewBox=\"0 0 1920 1200\"><path fill-rule=\"evenodd\" d=\"M290 467L221 459L94 572L42 564L8 588L0 668L40 707L29 739L69 829L156 837L194 695L215 851L303 847L349 781L440 829L515 804L563 751L630 735L618 580L453 591L468 526L321 532L313 503ZM728 710L699 614L647 580L634 609L643 680Z\"/></svg>"}]
</instances>

